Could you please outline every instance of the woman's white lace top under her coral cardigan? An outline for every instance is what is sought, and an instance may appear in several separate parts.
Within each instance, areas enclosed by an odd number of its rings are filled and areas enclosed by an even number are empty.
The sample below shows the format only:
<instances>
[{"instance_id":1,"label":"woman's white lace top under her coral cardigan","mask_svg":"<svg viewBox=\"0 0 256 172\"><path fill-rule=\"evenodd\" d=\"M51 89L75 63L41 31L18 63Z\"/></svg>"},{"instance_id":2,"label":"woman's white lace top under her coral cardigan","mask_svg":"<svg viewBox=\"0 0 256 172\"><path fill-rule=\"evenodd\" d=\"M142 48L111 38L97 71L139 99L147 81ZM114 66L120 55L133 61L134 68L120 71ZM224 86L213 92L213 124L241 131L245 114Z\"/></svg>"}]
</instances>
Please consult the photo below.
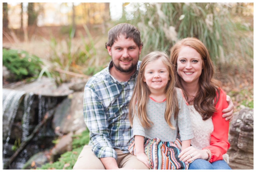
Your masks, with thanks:
<instances>
[{"instance_id":1,"label":"woman's white lace top under her coral cardigan","mask_svg":"<svg viewBox=\"0 0 256 172\"><path fill-rule=\"evenodd\" d=\"M196 111L194 105L189 105L190 119L194 138L191 139L191 145L197 149L202 149L210 145L213 124L211 117L208 120L202 120L202 116Z\"/></svg>"}]
</instances>

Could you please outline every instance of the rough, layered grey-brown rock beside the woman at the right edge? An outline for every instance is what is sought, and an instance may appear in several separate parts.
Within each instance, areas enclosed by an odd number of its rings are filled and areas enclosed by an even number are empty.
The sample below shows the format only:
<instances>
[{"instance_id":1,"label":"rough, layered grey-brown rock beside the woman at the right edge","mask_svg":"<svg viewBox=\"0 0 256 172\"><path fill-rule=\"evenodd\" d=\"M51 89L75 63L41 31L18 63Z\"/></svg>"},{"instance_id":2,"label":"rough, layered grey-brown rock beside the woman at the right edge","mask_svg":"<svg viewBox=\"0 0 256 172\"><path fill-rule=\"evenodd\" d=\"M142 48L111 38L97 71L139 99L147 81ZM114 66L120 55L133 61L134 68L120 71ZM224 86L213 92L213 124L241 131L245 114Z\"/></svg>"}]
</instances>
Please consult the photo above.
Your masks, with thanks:
<instances>
[{"instance_id":1,"label":"rough, layered grey-brown rock beside the woman at the right edge","mask_svg":"<svg viewBox=\"0 0 256 172\"><path fill-rule=\"evenodd\" d=\"M253 169L253 109L244 108L234 114L229 142L229 166L232 169Z\"/></svg>"}]
</instances>

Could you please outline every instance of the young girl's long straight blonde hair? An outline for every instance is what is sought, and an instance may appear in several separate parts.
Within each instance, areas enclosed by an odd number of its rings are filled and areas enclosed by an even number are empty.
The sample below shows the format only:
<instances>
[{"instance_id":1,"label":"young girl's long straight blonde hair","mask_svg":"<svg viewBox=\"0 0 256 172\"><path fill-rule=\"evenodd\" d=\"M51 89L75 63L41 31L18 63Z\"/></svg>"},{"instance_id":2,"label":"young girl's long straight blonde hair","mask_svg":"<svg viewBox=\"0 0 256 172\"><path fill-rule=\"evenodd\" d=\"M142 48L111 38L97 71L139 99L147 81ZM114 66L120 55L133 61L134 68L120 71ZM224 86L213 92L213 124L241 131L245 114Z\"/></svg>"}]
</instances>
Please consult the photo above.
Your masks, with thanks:
<instances>
[{"instance_id":1,"label":"young girl's long straight blonde hair","mask_svg":"<svg viewBox=\"0 0 256 172\"><path fill-rule=\"evenodd\" d=\"M141 67L138 73L136 85L129 105L129 120L131 126L134 115L138 116L138 119L140 119L141 125L144 128L150 128L151 125L153 125L153 122L150 119L148 119L147 116L147 101L150 95L150 90L146 82L144 82L143 80L146 65L158 59L162 59L163 64L166 65L170 78L165 88L166 109L164 118L167 124L170 126L170 128L175 129L175 127L170 122L172 113L174 113L174 118L176 119L179 112L177 93L175 89L173 65L170 59L168 58L167 54L161 51L153 51L149 53L143 58L141 62ZM137 111L135 110L136 107Z\"/></svg>"}]
</instances>

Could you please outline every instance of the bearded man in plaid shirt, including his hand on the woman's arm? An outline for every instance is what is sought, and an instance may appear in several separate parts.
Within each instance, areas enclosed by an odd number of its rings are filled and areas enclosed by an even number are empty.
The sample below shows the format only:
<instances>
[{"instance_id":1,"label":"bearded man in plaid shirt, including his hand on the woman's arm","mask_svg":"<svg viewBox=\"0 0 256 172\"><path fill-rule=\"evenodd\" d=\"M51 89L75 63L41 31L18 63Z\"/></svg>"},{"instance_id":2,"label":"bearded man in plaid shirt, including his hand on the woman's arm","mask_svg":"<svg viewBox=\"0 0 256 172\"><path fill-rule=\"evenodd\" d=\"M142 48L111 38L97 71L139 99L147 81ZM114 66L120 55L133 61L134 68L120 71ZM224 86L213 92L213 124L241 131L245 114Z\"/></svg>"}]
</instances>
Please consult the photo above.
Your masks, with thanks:
<instances>
[{"instance_id":1,"label":"bearded man in plaid shirt, including his hand on the woman's arm","mask_svg":"<svg viewBox=\"0 0 256 172\"><path fill-rule=\"evenodd\" d=\"M73 169L148 169L128 152L133 134L128 110L143 47L140 31L121 23L111 28L108 36L106 49L112 60L84 88L84 121L90 142L83 147ZM233 112L230 102L225 117Z\"/></svg>"}]
</instances>

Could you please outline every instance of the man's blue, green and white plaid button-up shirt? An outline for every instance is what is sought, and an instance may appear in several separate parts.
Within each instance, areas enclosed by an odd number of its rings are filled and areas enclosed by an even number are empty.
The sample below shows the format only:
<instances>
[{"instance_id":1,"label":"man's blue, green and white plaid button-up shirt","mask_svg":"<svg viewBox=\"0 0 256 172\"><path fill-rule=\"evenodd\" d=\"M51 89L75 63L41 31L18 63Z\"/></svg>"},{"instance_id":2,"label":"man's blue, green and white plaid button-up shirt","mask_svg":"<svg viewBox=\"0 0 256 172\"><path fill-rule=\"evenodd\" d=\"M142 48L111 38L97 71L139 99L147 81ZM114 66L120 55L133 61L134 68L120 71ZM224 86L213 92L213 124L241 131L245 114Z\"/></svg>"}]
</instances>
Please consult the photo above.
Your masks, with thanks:
<instances>
[{"instance_id":1,"label":"man's blue, green and white plaid button-up shirt","mask_svg":"<svg viewBox=\"0 0 256 172\"><path fill-rule=\"evenodd\" d=\"M114 157L114 148L128 153L128 144L132 138L132 128L128 119L129 103L136 83L138 69L129 81L119 82L111 76L109 69L112 61L95 74L84 88L83 114L90 131L92 151L98 158Z\"/></svg>"}]
</instances>

